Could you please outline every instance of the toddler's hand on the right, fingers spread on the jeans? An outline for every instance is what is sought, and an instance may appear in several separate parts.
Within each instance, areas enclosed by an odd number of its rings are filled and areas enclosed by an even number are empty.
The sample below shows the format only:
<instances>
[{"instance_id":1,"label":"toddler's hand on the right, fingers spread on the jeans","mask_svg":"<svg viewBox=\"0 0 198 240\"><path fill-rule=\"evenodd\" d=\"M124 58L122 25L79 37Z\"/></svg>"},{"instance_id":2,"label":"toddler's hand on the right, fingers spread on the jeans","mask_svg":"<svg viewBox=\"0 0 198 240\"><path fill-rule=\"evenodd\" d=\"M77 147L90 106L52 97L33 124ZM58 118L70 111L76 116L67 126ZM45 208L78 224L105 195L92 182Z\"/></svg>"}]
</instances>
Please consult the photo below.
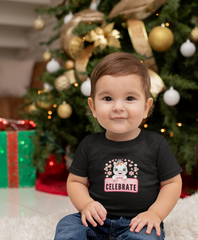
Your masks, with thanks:
<instances>
[{"instance_id":1,"label":"toddler's hand on the right, fingers spread on the jeans","mask_svg":"<svg viewBox=\"0 0 198 240\"><path fill-rule=\"evenodd\" d=\"M139 233L142 228L147 225L147 234L150 234L151 230L155 228L156 235L160 236L160 223L161 219L154 212L148 210L146 212L138 214L135 218L133 218L129 226L131 227L131 232L135 230L136 233Z\"/></svg>"}]
</instances>

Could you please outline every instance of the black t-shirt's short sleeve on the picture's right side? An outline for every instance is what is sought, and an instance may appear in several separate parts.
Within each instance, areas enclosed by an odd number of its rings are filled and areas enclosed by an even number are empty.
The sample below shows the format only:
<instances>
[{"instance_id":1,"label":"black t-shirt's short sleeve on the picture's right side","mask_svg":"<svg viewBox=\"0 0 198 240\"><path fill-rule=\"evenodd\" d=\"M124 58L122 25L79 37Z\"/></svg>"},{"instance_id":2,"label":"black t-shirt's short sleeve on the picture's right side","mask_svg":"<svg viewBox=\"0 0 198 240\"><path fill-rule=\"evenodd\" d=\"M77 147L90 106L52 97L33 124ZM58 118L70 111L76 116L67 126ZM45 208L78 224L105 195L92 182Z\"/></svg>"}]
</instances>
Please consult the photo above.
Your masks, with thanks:
<instances>
[{"instance_id":1,"label":"black t-shirt's short sleeve on the picture's right side","mask_svg":"<svg viewBox=\"0 0 198 240\"><path fill-rule=\"evenodd\" d=\"M162 139L159 146L157 167L160 182L173 178L182 172L182 168L165 138Z\"/></svg>"}]
</instances>

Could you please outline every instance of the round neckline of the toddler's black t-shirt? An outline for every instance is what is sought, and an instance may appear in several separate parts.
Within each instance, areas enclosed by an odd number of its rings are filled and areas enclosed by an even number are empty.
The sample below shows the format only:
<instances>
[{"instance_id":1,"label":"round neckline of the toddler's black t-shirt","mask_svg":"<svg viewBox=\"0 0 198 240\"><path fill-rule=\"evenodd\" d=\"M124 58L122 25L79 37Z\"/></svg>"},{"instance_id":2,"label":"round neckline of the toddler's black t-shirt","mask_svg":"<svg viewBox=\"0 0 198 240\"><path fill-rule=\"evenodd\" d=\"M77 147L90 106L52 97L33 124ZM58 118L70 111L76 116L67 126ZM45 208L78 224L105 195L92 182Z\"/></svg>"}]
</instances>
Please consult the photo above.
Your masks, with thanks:
<instances>
[{"instance_id":1,"label":"round neckline of the toddler's black t-shirt","mask_svg":"<svg viewBox=\"0 0 198 240\"><path fill-rule=\"evenodd\" d=\"M136 145L137 143L141 142L145 138L145 135L146 135L146 131L144 129L141 129L139 135L136 138L129 141L116 142L116 141L107 139L105 136L105 132L103 132L100 135L99 140L105 146L113 147L113 148L123 148L123 147Z\"/></svg>"}]
</instances>

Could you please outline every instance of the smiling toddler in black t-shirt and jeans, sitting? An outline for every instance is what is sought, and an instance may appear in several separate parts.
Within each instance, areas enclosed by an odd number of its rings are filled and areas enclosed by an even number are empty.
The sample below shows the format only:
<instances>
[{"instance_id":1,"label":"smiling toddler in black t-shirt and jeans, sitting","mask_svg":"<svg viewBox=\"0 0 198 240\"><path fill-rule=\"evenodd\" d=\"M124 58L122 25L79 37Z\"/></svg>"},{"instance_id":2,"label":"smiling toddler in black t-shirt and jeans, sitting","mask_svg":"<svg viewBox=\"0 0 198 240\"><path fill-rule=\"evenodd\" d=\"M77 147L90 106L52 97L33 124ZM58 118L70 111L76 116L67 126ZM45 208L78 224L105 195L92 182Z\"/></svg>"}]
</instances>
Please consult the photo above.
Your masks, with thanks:
<instances>
[{"instance_id":1,"label":"smiling toddler in black t-shirt and jeans, sitting","mask_svg":"<svg viewBox=\"0 0 198 240\"><path fill-rule=\"evenodd\" d=\"M153 104L147 69L132 54L107 55L88 104L105 132L79 144L67 180L79 213L60 220L55 240L163 240L182 170L162 135L139 128Z\"/></svg>"}]
</instances>

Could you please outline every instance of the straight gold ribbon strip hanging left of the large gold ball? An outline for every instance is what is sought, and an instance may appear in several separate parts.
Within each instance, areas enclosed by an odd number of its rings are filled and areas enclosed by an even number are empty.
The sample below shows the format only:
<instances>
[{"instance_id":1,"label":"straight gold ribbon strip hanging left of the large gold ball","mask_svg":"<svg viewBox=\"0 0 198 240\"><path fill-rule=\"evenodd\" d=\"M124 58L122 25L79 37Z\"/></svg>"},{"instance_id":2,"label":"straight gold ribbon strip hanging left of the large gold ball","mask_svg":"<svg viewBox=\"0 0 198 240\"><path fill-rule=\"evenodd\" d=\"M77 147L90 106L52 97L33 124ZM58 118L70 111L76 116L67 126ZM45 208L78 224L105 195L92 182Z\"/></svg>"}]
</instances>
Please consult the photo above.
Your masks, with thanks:
<instances>
[{"instance_id":1,"label":"straight gold ribbon strip hanging left of the large gold ball","mask_svg":"<svg viewBox=\"0 0 198 240\"><path fill-rule=\"evenodd\" d=\"M135 51L145 57L144 65L158 72L144 23L140 20L127 20L128 32Z\"/></svg>"}]
</instances>

